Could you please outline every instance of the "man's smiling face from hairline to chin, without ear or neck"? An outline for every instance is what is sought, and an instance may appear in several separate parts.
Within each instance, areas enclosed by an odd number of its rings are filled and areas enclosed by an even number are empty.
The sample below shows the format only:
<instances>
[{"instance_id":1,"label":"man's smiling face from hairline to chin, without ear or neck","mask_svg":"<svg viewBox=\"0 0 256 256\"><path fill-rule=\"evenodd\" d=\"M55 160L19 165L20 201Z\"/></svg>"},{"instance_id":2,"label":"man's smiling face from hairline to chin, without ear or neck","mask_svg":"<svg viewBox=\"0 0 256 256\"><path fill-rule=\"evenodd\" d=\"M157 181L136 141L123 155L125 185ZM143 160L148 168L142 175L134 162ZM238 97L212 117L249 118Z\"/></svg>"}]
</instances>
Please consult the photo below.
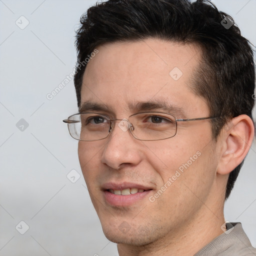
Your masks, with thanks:
<instances>
[{"instance_id":1,"label":"man's smiling face from hairline to chin, without ear or neck","mask_svg":"<svg viewBox=\"0 0 256 256\"><path fill-rule=\"evenodd\" d=\"M101 106L82 112L119 119L144 111L209 116L206 102L189 89L200 59L192 45L146 39L97 49L83 76L81 105ZM172 109L160 107L165 103ZM218 152L209 120L179 121L175 136L154 141L137 140L118 123L108 137L78 144L87 188L109 240L147 244L215 217L207 209L214 204Z\"/></svg>"}]
</instances>

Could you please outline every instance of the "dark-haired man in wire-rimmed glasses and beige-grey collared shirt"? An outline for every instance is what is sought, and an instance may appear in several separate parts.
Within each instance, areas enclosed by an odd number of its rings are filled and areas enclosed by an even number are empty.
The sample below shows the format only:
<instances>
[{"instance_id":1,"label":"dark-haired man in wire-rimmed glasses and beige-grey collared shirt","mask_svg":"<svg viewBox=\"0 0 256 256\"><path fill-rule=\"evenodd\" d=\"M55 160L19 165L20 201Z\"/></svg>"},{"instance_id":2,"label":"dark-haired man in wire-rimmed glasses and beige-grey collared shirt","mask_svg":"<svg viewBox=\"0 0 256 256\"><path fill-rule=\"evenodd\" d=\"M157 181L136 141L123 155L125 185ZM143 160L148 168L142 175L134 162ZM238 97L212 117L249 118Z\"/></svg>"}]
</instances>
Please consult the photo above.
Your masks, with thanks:
<instances>
[{"instance_id":1,"label":"dark-haired man in wire-rimmed glasses and beige-grey collared shirt","mask_svg":"<svg viewBox=\"0 0 256 256\"><path fill-rule=\"evenodd\" d=\"M256 255L223 216L254 135L252 50L231 17L204 0L109 0L76 39L79 113L64 121L119 255Z\"/></svg>"}]
</instances>

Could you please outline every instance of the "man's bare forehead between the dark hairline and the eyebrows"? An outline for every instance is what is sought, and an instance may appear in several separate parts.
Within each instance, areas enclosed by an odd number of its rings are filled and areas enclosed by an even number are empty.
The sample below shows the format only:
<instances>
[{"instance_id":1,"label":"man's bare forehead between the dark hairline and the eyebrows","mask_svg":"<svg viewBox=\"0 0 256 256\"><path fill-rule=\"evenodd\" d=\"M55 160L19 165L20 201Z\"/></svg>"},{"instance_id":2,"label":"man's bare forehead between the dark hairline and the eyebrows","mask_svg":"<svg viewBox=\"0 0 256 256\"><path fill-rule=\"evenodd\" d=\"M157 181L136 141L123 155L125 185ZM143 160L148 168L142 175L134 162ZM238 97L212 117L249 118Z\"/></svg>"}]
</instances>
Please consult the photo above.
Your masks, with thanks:
<instances>
[{"instance_id":1,"label":"man's bare forehead between the dark hairline and the eyebrows","mask_svg":"<svg viewBox=\"0 0 256 256\"><path fill-rule=\"evenodd\" d=\"M207 108L189 89L200 60L200 51L193 45L150 38L97 49L83 75L81 103L128 109L136 102L163 101L185 108L192 100L195 106Z\"/></svg>"}]
</instances>

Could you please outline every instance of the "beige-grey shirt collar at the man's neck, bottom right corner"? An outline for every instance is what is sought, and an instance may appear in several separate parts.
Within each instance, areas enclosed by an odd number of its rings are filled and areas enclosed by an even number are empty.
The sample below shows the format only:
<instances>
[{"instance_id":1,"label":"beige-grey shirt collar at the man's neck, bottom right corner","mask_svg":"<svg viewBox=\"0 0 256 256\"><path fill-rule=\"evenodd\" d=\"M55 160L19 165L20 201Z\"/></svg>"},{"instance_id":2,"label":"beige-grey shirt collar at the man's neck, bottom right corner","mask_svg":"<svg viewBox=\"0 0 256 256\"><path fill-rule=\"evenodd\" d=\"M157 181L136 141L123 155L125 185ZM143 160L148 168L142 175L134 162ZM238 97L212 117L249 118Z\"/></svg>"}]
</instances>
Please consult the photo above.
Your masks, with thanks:
<instances>
[{"instance_id":1,"label":"beige-grey shirt collar at the man's neck, bottom right corner","mask_svg":"<svg viewBox=\"0 0 256 256\"><path fill-rule=\"evenodd\" d=\"M241 223L229 223L229 229L200 249L194 256L256 256L256 248L242 229ZM233 226L233 227L232 227Z\"/></svg>"}]
</instances>

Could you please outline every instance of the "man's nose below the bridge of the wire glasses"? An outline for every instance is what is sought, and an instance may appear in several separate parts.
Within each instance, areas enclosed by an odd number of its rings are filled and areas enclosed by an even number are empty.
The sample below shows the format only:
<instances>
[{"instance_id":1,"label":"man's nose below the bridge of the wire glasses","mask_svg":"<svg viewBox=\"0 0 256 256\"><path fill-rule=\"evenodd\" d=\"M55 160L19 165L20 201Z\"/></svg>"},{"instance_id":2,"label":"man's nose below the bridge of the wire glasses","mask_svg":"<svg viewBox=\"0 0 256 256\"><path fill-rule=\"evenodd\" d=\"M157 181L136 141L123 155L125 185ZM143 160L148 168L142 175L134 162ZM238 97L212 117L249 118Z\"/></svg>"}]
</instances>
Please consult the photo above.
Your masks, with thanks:
<instances>
[{"instance_id":1,"label":"man's nose below the bridge of the wire glasses","mask_svg":"<svg viewBox=\"0 0 256 256\"><path fill-rule=\"evenodd\" d=\"M113 119L111 133L106 139L101 162L113 169L135 166L142 160L141 141L129 132L132 124L127 119Z\"/></svg>"}]
</instances>

